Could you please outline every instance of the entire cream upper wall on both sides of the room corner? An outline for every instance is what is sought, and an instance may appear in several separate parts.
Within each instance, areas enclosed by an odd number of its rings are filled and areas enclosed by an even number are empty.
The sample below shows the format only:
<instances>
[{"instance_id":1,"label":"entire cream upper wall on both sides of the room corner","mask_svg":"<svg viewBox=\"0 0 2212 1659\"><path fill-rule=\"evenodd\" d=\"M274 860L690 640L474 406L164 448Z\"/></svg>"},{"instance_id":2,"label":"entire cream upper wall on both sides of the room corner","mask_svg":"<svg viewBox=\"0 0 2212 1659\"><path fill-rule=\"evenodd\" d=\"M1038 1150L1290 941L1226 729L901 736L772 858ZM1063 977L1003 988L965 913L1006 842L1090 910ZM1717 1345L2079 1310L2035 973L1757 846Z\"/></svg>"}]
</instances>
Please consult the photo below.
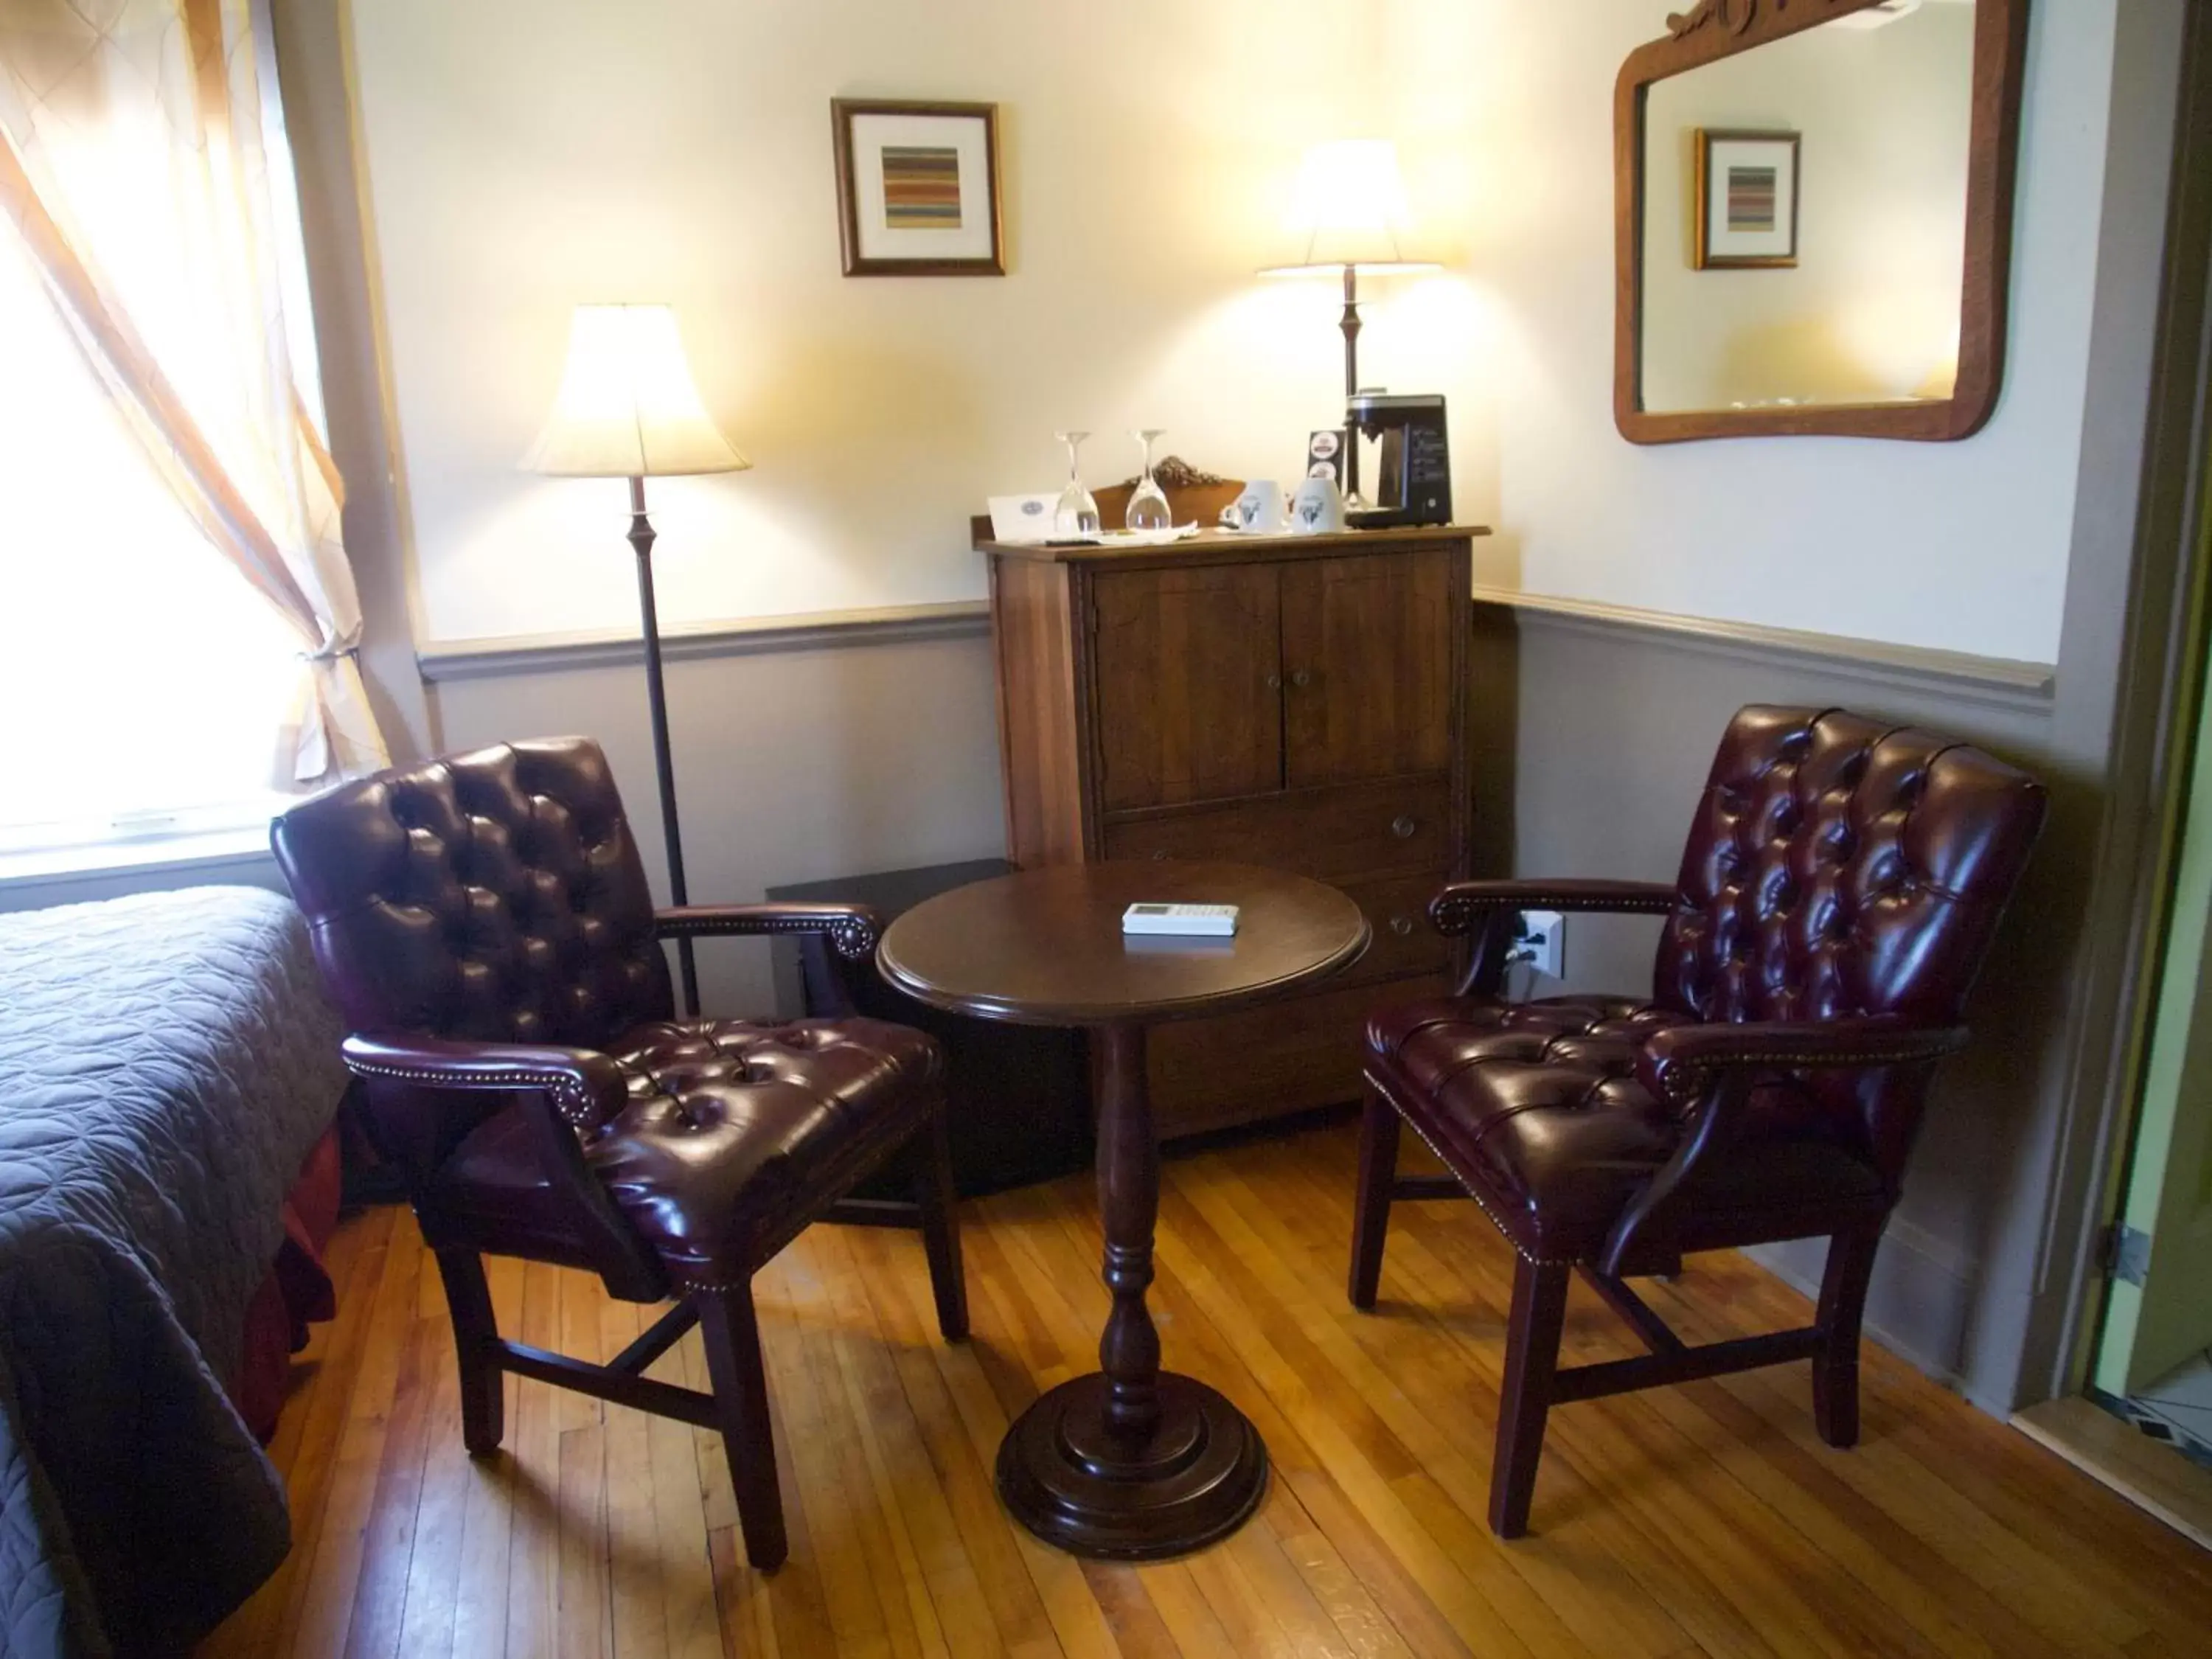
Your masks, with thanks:
<instances>
[{"instance_id":1,"label":"entire cream upper wall on both sides of the room corner","mask_svg":"<svg viewBox=\"0 0 2212 1659\"><path fill-rule=\"evenodd\" d=\"M619 487L513 469L586 299L675 303L759 462L655 487L675 624L978 597L964 518L1055 484L1062 425L1093 480L1155 422L1287 473L1336 409L1336 301L1250 272L1298 150L1387 131L1451 272L1380 296L1365 378L1451 398L1486 580L2048 661L2115 4L2035 7L1991 427L1674 449L1610 420L1610 88L1657 0L1367 0L1349 31L1321 0L356 4L422 641L635 626ZM1002 104L1011 276L838 274L838 93Z\"/></svg>"}]
</instances>

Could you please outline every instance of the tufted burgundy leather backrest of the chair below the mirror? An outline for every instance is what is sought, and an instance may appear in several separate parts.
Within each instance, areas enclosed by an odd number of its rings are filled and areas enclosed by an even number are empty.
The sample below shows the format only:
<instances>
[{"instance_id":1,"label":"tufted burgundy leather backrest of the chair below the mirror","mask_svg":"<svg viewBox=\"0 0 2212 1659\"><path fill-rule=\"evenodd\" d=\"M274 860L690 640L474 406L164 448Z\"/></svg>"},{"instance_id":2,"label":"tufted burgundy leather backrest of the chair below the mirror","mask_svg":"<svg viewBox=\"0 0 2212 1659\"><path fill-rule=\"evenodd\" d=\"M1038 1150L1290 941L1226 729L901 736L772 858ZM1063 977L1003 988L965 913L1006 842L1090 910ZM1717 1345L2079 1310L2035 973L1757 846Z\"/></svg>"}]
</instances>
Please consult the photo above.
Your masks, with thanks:
<instances>
[{"instance_id":1,"label":"tufted burgundy leather backrest of the chair below the mirror","mask_svg":"<svg viewBox=\"0 0 2212 1659\"><path fill-rule=\"evenodd\" d=\"M1960 1018L2044 821L1982 750L1845 710L1741 710L1652 995L1699 1020Z\"/></svg>"}]
</instances>

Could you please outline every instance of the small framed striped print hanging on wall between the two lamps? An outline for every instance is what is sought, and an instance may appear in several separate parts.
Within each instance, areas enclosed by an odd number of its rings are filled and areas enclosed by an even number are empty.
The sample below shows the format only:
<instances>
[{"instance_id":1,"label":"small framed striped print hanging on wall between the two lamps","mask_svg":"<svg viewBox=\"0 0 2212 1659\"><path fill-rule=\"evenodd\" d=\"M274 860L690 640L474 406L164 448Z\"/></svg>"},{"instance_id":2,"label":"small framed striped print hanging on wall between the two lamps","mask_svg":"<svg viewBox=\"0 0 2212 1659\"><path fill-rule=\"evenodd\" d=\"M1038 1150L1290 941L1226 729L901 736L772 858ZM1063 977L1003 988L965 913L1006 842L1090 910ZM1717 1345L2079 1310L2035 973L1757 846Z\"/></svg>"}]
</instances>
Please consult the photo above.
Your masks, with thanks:
<instances>
[{"instance_id":1,"label":"small framed striped print hanging on wall between the two lamps","mask_svg":"<svg viewBox=\"0 0 2212 1659\"><path fill-rule=\"evenodd\" d=\"M998 104L830 100L847 276L1004 276Z\"/></svg>"}]
</instances>

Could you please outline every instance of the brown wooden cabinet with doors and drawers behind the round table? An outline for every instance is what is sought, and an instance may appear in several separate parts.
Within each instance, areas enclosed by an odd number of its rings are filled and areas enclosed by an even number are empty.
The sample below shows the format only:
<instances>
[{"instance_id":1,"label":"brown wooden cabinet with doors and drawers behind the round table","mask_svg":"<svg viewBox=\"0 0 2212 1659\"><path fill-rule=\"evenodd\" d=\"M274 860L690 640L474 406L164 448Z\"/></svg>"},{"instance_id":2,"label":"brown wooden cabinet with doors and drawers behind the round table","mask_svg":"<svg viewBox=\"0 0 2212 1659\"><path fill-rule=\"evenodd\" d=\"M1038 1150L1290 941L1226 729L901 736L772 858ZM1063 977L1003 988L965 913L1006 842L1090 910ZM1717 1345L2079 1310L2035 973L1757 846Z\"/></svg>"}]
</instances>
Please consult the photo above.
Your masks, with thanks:
<instances>
[{"instance_id":1,"label":"brown wooden cabinet with doors and drawers behind the round table","mask_svg":"<svg viewBox=\"0 0 2212 1659\"><path fill-rule=\"evenodd\" d=\"M1374 927L1327 987L1157 1031L1164 1137L1356 1097L1365 1011L1447 984L1422 911L1467 874L1480 533L978 542L1018 865L1274 865L1343 887Z\"/></svg>"}]
</instances>

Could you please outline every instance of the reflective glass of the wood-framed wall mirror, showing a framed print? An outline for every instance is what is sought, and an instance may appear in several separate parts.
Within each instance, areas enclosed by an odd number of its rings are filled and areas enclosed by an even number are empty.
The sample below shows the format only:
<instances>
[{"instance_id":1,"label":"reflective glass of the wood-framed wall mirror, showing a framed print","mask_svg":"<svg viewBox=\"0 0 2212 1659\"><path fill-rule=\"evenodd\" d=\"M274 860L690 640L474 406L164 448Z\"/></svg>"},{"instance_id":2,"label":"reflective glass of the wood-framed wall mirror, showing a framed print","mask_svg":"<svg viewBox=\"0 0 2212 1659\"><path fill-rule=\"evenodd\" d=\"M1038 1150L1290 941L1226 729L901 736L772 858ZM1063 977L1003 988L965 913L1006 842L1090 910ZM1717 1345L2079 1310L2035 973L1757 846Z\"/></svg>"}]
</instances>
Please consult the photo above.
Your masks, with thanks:
<instances>
[{"instance_id":1,"label":"reflective glass of the wood-framed wall mirror, showing a framed print","mask_svg":"<svg viewBox=\"0 0 2212 1659\"><path fill-rule=\"evenodd\" d=\"M1641 407L1949 398L1973 0L1889 0L1652 82Z\"/></svg>"}]
</instances>

